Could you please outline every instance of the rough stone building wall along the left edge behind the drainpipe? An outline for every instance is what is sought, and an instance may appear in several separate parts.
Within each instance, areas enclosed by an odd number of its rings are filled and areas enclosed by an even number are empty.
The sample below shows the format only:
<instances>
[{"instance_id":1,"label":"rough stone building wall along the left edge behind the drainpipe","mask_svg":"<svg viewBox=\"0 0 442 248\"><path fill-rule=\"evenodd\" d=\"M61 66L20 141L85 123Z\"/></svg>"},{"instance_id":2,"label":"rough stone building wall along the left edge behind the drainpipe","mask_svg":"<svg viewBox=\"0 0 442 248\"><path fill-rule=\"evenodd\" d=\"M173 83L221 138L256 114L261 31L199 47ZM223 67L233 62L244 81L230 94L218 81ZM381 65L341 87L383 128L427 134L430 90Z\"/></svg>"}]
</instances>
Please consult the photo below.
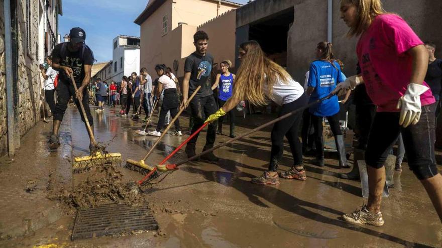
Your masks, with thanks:
<instances>
[{"instance_id":1,"label":"rough stone building wall along the left edge behind the drainpipe","mask_svg":"<svg viewBox=\"0 0 442 248\"><path fill-rule=\"evenodd\" d=\"M20 138L40 120L40 71L37 60L39 1L31 0L30 38L31 49L27 48L26 0L17 1L17 81L14 86L15 148L20 146ZM8 122L6 105L5 29L4 3L0 2L0 154L8 151ZM14 36L14 33L13 33ZM13 38L14 41L14 38ZM14 58L13 58L14 60Z\"/></svg>"}]
</instances>

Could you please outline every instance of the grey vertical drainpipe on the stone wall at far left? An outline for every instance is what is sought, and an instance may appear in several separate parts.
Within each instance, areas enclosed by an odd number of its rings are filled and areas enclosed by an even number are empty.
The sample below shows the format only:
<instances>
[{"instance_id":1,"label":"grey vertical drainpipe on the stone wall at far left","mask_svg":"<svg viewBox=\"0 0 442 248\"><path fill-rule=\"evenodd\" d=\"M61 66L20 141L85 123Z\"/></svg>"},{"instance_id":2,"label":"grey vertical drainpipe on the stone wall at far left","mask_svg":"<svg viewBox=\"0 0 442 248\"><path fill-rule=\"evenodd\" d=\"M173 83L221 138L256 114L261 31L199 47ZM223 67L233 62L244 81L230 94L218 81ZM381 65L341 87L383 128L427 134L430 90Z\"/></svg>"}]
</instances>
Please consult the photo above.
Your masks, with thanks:
<instances>
[{"instance_id":1,"label":"grey vertical drainpipe on the stone wall at far left","mask_svg":"<svg viewBox=\"0 0 442 248\"><path fill-rule=\"evenodd\" d=\"M12 37L11 37L11 1L4 0L5 17L5 64L6 64L6 106L8 116L8 152L14 156L14 108L13 108L13 85L12 85Z\"/></svg>"}]
</instances>

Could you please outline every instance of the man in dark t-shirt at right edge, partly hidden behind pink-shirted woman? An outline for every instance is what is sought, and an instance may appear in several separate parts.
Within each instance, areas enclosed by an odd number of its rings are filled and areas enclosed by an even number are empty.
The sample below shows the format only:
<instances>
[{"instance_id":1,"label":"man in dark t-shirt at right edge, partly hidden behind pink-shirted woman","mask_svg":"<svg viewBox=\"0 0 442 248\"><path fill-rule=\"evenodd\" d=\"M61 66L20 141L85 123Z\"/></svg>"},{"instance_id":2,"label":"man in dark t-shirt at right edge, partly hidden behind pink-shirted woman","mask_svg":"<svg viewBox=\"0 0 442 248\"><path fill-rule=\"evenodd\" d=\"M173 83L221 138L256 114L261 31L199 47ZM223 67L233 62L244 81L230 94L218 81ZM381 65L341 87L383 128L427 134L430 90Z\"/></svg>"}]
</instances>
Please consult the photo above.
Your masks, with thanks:
<instances>
[{"instance_id":1,"label":"man in dark t-shirt at right edge, partly hidden behind pink-shirted woman","mask_svg":"<svg viewBox=\"0 0 442 248\"><path fill-rule=\"evenodd\" d=\"M434 57L436 45L432 42L425 42L425 48L428 50L428 70L425 75L425 82L431 89L436 99L436 120L440 112L440 96L442 96L442 60Z\"/></svg>"}]
</instances>

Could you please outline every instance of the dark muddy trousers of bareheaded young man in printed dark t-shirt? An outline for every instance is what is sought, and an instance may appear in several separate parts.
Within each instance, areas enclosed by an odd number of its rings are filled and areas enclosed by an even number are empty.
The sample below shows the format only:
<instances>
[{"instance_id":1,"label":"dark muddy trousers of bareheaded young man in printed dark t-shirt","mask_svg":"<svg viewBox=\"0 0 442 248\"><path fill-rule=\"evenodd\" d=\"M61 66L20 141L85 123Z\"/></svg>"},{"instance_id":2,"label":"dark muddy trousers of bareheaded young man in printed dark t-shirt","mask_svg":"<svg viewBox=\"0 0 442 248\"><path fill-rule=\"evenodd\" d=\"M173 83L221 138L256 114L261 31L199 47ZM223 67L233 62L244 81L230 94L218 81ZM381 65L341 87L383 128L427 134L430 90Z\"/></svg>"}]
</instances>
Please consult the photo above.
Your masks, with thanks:
<instances>
[{"instance_id":1,"label":"dark muddy trousers of bareheaded young man in printed dark t-shirt","mask_svg":"<svg viewBox=\"0 0 442 248\"><path fill-rule=\"evenodd\" d=\"M189 92L190 94L190 92ZM217 105L215 102L215 99L212 95L205 96L205 97L199 97L195 96L192 101L190 101L189 104L190 110L192 111L192 117L193 117L193 125L192 125L192 131L191 133L194 133L198 128L200 128L203 124L205 119L216 112ZM216 124L217 122L214 121L210 123L207 127L207 133L205 138L205 149L210 149L213 147L213 144L215 143L216 138ZM196 140L198 139L199 134L196 134L187 144L187 146L195 147Z\"/></svg>"}]
</instances>

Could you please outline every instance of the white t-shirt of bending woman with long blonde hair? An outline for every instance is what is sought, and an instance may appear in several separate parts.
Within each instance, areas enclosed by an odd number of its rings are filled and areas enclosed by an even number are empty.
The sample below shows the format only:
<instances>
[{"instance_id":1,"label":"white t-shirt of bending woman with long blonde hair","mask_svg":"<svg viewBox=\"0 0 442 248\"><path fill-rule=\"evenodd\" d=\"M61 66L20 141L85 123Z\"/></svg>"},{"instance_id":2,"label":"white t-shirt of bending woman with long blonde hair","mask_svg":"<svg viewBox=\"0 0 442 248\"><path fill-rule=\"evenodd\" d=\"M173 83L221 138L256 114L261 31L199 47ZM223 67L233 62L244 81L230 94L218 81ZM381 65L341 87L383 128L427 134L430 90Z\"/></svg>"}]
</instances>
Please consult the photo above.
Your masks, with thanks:
<instances>
[{"instance_id":1,"label":"white t-shirt of bending woman with long blonde hair","mask_svg":"<svg viewBox=\"0 0 442 248\"><path fill-rule=\"evenodd\" d=\"M264 90L266 92L267 97L271 98L268 94L267 87L264 86ZM304 88L302 86L290 78L289 82L285 84L281 81L281 79L278 79L278 82L273 85L273 101L278 104L279 106L282 106L287 103L291 103L298 99L299 97L304 94Z\"/></svg>"}]
</instances>

